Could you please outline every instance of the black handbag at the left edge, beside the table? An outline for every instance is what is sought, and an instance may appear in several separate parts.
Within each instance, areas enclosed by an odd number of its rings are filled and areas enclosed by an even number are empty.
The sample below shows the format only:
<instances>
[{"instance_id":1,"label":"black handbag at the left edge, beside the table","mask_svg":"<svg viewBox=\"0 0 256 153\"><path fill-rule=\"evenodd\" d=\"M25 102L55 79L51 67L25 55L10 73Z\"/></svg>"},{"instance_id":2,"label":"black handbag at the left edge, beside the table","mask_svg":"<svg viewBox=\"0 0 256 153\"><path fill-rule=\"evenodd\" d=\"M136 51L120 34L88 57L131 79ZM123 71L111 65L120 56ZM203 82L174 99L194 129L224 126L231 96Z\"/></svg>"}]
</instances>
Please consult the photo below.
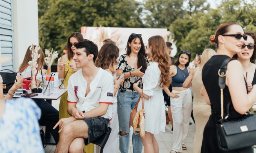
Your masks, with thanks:
<instances>
[{"instance_id":1,"label":"black handbag at the left edge, beside the table","mask_svg":"<svg viewBox=\"0 0 256 153\"><path fill-rule=\"evenodd\" d=\"M1 72L1 71L9 71L9 72ZM0 75L3 79L3 92L7 93L9 89L11 89L12 85L14 84L17 73L9 69L4 69L1 71L0 71Z\"/></svg>"}]
</instances>

